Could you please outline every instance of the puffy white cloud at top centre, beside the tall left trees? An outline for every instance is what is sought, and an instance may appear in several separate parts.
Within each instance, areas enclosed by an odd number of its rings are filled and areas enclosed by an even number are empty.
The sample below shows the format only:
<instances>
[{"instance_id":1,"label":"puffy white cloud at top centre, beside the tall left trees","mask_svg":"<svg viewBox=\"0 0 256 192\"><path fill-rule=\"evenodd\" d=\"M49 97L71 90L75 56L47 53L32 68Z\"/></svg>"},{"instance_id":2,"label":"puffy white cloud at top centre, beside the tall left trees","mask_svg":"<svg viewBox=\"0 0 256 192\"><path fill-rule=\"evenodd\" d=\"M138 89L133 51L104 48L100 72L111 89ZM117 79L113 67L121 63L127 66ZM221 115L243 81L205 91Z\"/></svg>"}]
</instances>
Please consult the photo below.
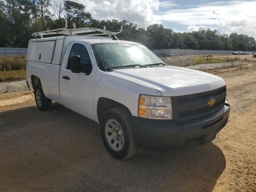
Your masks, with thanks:
<instances>
[{"instance_id":1,"label":"puffy white cloud at top centre, beside the tall left trees","mask_svg":"<svg viewBox=\"0 0 256 192\"><path fill-rule=\"evenodd\" d=\"M156 11L158 0L78 0L86 6L86 11L97 20L128 20L146 27L160 23Z\"/></svg>"}]
</instances>

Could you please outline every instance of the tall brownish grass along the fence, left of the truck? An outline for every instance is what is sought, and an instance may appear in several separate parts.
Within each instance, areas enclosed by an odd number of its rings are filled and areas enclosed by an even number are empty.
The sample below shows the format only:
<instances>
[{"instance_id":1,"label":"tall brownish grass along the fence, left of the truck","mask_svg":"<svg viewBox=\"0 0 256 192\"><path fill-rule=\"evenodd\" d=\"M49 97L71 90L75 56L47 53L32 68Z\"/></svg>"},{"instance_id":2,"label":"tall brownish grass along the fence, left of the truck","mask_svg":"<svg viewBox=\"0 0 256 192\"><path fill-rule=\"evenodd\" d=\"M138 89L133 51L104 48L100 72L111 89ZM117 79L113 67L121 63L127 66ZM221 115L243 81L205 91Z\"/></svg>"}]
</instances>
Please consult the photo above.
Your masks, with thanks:
<instances>
[{"instance_id":1,"label":"tall brownish grass along the fence, left of the truck","mask_svg":"<svg viewBox=\"0 0 256 192\"><path fill-rule=\"evenodd\" d=\"M25 56L0 57L0 71L26 70Z\"/></svg>"}]
</instances>

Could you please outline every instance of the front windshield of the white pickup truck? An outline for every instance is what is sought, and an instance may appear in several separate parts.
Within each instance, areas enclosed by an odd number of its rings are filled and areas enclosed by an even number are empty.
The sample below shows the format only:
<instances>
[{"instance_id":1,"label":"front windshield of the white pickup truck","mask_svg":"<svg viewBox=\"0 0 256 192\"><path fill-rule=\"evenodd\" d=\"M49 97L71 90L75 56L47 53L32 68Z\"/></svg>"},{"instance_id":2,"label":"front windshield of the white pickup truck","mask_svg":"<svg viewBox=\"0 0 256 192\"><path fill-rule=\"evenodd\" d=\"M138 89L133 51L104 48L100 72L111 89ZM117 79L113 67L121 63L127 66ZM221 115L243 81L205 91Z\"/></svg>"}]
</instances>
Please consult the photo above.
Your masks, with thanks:
<instances>
[{"instance_id":1,"label":"front windshield of the white pickup truck","mask_svg":"<svg viewBox=\"0 0 256 192\"><path fill-rule=\"evenodd\" d=\"M98 43L92 46L103 70L163 63L148 48L140 44Z\"/></svg>"}]
</instances>

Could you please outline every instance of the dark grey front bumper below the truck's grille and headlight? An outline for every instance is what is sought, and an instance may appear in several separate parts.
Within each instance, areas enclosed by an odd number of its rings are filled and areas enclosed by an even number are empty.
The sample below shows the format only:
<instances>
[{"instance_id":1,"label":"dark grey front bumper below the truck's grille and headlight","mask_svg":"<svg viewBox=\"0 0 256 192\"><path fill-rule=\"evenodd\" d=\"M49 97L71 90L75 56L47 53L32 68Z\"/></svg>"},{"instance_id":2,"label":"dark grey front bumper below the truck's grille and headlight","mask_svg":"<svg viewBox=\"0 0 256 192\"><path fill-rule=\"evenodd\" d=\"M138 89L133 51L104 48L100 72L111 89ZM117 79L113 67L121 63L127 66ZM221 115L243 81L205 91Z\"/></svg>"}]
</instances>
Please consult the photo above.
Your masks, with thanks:
<instances>
[{"instance_id":1,"label":"dark grey front bumper below the truck's grille and headlight","mask_svg":"<svg viewBox=\"0 0 256 192\"><path fill-rule=\"evenodd\" d=\"M215 139L216 134L226 125L230 106L214 114L192 120L175 123L172 120L151 120L132 116L132 131L136 146L143 150L167 151L186 145L205 144Z\"/></svg>"}]
</instances>

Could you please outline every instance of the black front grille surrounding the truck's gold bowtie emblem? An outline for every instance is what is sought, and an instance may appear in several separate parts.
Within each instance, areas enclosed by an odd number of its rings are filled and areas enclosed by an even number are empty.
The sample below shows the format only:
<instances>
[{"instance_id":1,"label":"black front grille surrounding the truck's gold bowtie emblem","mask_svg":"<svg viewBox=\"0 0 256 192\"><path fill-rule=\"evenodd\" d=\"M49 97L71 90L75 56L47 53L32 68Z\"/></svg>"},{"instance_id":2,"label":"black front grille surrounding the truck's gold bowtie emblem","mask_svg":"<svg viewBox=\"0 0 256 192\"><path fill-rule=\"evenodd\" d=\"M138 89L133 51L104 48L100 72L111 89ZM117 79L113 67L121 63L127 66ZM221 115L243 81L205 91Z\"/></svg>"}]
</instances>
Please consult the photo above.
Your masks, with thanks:
<instances>
[{"instance_id":1,"label":"black front grille surrounding the truck's gold bowtie emblem","mask_svg":"<svg viewBox=\"0 0 256 192\"><path fill-rule=\"evenodd\" d=\"M215 103L209 106L207 103L211 99ZM208 92L172 97L173 120L184 122L211 115L224 106L225 100L226 86Z\"/></svg>"}]
</instances>

